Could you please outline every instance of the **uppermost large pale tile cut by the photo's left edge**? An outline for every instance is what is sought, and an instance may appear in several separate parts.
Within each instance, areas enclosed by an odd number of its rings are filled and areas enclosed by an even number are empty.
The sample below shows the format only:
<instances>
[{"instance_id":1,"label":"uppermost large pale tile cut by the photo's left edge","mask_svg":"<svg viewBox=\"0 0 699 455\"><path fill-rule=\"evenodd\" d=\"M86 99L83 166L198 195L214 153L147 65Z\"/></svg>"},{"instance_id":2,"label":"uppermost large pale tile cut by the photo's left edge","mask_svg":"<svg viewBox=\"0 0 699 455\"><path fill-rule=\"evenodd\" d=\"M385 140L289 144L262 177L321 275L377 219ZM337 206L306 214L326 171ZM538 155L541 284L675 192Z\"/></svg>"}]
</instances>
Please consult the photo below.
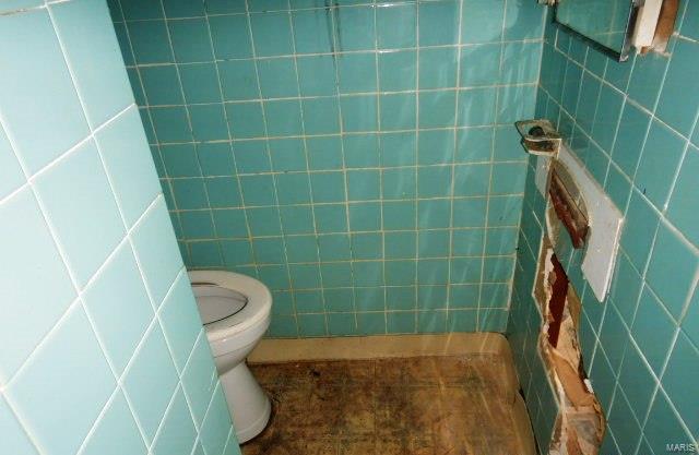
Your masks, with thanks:
<instances>
[{"instance_id":1,"label":"uppermost large pale tile cut by the photo's left edge","mask_svg":"<svg viewBox=\"0 0 699 455\"><path fill-rule=\"evenodd\" d=\"M87 123L47 10L0 20L3 122L16 153L34 173L87 135ZM20 43L22 46L20 46ZM50 72L51 77L43 75ZM33 99L44 99L36 109Z\"/></svg>"}]
</instances>

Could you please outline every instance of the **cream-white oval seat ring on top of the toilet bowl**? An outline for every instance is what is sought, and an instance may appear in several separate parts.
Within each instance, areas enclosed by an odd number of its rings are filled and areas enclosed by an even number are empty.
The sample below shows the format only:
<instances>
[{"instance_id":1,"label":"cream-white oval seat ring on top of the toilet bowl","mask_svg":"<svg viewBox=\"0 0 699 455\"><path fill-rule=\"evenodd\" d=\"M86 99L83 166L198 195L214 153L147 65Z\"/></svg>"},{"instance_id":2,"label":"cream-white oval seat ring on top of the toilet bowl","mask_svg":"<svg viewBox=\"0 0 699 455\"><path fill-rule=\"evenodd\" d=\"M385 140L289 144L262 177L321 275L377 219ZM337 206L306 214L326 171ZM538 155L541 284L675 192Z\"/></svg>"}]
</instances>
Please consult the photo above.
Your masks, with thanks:
<instances>
[{"instance_id":1,"label":"cream-white oval seat ring on top of the toilet bowl","mask_svg":"<svg viewBox=\"0 0 699 455\"><path fill-rule=\"evenodd\" d=\"M237 312L204 326L210 343L230 338L246 330L259 326L269 319L272 295L266 286L254 278L232 272L193 271L189 272L189 279L194 285L206 284L229 289L247 299L245 306ZM192 290L197 297L197 286L192 286Z\"/></svg>"}]
</instances>

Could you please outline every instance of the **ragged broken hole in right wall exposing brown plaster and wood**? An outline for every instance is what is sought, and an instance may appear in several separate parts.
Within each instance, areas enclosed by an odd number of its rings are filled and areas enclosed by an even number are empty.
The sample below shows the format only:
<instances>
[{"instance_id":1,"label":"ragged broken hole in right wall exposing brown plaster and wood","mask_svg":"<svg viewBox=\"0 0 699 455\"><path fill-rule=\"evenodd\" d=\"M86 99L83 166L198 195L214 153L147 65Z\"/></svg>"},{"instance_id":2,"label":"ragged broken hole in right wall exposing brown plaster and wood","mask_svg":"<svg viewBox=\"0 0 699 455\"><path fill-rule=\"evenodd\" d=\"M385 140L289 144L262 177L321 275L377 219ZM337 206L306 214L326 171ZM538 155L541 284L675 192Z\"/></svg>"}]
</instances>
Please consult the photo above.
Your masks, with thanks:
<instances>
[{"instance_id":1,"label":"ragged broken hole in right wall exposing brown plaster and wood","mask_svg":"<svg viewBox=\"0 0 699 455\"><path fill-rule=\"evenodd\" d=\"M564 169L554 167L552 204L542 239L533 295L543 315L540 349L558 402L549 455L597 455L605 419L582 364L578 342L580 299L558 260L584 244L587 209ZM543 447L542 447L543 448Z\"/></svg>"}]
</instances>

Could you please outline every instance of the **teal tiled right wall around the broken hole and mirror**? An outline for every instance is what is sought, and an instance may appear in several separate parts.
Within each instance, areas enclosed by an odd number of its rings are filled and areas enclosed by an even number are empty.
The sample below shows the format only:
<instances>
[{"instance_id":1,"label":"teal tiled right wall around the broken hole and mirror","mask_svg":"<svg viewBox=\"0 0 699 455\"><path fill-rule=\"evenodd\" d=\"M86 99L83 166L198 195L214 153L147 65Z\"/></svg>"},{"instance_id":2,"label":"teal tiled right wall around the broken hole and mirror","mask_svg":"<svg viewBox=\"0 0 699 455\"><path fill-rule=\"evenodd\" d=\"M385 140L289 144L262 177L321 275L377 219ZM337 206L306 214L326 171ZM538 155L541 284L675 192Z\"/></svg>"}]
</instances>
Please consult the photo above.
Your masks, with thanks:
<instances>
[{"instance_id":1,"label":"teal tiled right wall around the broken hole and mirror","mask_svg":"<svg viewBox=\"0 0 699 455\"><path fill-rule=\"evenodd\" d=\"M699 2L680 2L666 55L614 62L564 31L545 31L537 116L558 125L625 214L611 292L595 300L580 255L585 369L608 421L601 453L664 454L699 435ZM555 400L536 351L531 297L544 202L530 163L508 333L541 446ZM695 445L696 447L696 445Z\"/></svg>"}]
</instances>

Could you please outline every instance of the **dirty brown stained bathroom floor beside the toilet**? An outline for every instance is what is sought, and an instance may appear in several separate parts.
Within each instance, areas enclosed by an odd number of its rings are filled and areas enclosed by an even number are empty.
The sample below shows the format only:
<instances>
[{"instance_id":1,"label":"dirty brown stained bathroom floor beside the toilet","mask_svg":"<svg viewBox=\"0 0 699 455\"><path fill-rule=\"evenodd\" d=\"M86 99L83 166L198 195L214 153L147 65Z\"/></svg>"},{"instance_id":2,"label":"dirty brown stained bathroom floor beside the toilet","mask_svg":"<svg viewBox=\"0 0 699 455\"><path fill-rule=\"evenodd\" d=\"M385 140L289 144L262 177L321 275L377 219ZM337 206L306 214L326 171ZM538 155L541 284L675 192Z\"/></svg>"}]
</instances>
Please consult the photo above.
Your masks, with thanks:
<instances>
[{"instance_id":1,"label":"dirty brown stained bathroom floor beside the toilet","mask_svg":"<svg viewBox=\"0 0 699 455\"><path fill-rule=\"evenodd\" d=\"M270 426L244 455L520 455L493 355L251 366Z\"/></svg>"}]
</instances>

